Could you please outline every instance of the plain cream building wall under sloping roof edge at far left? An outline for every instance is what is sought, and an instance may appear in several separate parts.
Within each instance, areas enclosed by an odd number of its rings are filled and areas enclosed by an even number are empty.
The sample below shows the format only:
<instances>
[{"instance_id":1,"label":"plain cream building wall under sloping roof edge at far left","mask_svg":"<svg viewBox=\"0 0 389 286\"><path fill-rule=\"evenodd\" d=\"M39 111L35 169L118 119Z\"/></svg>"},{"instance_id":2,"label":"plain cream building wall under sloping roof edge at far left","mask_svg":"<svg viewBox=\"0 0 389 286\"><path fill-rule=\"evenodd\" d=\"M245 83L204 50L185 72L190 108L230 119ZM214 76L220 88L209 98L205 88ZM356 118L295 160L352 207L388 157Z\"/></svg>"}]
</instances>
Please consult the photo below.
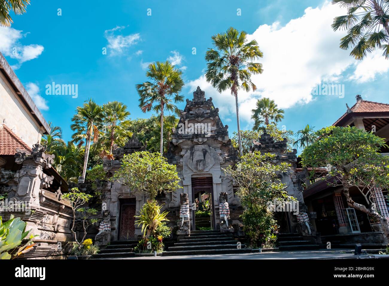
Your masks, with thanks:
<instances>
[{"instance_id":1,"label":"plain cream building wall under sloping roof edge at far left","mask_svg":"<svg viewBox=\"0 0 389 286\"><path fill-rule=\"evenodd\" d=\"M32 118L30 112L11 90L5 77L0 74L0 124L4 122L28 146L40 142L42 132L40 126Z\"/></svg>"}]
</instances>

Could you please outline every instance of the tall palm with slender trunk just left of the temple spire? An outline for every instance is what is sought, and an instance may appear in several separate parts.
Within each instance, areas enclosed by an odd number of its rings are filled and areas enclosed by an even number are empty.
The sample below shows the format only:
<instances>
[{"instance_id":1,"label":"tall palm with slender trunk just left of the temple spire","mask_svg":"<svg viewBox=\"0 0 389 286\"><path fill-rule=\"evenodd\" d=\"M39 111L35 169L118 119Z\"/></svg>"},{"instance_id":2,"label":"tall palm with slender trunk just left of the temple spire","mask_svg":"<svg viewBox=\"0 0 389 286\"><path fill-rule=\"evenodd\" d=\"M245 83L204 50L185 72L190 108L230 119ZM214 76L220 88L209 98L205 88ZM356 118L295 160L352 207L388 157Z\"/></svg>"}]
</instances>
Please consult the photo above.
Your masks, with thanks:
<instances>
[{"instance_id":1,"label":"tall palm with slender trunk just left of the temple spire","mask_svg":"<svg viewBox=\"0 0 389 286\"><path fill-rule=\"evenodd\" d=\"M143 112L152 109L160 115L161 134L159 150L162 156L164 112L166 110L179 114L179 109L175 104L184 101L184 96L179 95L184 86L184 81L181 77L181 70L175 68L170 61L151 63L146 72L146 76L151 81L136 85L139 94L139 107Z\"/></svg>"}]
</instances>

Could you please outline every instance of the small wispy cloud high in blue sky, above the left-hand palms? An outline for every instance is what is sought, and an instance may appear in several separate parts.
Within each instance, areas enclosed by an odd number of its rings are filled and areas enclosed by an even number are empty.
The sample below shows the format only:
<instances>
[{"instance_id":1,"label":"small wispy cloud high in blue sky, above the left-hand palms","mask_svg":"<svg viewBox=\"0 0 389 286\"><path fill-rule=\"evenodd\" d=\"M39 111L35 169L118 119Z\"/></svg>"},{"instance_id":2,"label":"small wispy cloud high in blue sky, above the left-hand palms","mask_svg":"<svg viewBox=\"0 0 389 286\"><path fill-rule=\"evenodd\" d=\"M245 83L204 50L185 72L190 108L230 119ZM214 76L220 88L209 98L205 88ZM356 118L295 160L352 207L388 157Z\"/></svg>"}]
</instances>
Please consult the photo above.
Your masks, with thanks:
<instances>
[{"instance_id":1,"label":"small wispy cloud high in blue sky, above the left-hand palms","mask_svg":"<svg viewBox=\"0 0 389 286\"><path fill-rule=\"evenodd\" d=\"M108 41L109 54L111 56L123 54L128 47L137 44L140 40L139 33L131 34L128 36L115 35L116 31L121 31L125 26L117 26L111 30L104 31L104 37Z\"/></svg>"}]
</instances>

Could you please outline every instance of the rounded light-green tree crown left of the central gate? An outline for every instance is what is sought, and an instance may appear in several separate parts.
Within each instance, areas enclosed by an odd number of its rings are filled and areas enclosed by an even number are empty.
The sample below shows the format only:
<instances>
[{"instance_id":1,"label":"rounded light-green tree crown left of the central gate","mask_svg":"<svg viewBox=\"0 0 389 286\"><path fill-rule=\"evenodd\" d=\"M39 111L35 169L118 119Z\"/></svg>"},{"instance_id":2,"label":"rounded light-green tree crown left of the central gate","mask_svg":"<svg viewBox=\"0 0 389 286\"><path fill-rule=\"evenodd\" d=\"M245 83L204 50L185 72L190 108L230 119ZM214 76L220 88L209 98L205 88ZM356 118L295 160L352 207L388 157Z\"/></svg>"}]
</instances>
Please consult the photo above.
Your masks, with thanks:
<instances>
[{"instance_id":1,"label":"rounded light-green tree crown left of the central gate","mask_svg":"<svg viewBox=\"0 0 389 286\"><path fill-rule=\"evenodd\" d=\"M124 155L121 168L111 178L133 191L146 193L155 200L158 193L182 188L176 166L170 165L159 153L147 151Z\"/></svg>"}]
</instances>

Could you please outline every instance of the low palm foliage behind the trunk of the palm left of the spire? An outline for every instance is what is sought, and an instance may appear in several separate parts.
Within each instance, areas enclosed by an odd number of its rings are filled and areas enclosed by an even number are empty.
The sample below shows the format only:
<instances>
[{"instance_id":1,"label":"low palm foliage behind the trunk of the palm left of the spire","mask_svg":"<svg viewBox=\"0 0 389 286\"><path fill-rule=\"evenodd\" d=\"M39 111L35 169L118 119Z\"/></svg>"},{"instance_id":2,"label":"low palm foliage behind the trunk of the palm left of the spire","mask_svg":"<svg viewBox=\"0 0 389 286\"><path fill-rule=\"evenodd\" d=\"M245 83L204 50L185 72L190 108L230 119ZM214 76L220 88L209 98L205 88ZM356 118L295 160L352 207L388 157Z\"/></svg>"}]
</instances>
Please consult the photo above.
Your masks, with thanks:
<instances>
[{"instance_id":1,"label":"low palm foliage behind the trunk of the palm left of the spire","mask_svg":"<svg viewBox=\"0 0 389 286\"><path fill-rule=\"evenodd\" d=\"M169 148L170 141L172 140L172 129L177 126L179 119L174 115L163 117L163 153L166 153ZM150 132L151 138L147 143L147 149L150 152L159 152L159 143L161 137L161 123L156 121Z\"/></svg>"}]
</instances>

